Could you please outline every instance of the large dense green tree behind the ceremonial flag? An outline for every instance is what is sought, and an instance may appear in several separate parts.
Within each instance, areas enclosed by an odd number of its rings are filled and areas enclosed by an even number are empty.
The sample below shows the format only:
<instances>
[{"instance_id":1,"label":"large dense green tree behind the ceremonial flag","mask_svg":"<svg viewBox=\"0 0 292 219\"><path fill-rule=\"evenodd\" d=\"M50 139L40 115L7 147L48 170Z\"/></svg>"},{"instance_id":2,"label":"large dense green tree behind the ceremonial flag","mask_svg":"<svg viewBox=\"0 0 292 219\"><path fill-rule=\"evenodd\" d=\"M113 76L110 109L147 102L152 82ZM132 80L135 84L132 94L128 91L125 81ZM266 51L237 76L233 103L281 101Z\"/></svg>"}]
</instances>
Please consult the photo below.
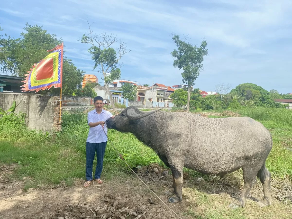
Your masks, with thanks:
<instances>
[{"instance_id":1,"label":"large dense green tree behind the ceremonial flag","mask_svg":"<svg viewBox=\"0 0 292 219\"><path fill-rule=\"evenodd\" d=\"M10 72L12 75L24 77L34 63L45 58L49 53L47 50L61 44L55 34L48 34L42 26L31 26L26 23L24 32L20 38L15 39L5 34L0 36L0 65L2 72ZM77 90L81 91L81 82L84 71L77 69L72 60L63 57L62 93L71 95ZM39 93L60 92L60 88L51 88L49 91Z\"/></svg>"}]
</instances>

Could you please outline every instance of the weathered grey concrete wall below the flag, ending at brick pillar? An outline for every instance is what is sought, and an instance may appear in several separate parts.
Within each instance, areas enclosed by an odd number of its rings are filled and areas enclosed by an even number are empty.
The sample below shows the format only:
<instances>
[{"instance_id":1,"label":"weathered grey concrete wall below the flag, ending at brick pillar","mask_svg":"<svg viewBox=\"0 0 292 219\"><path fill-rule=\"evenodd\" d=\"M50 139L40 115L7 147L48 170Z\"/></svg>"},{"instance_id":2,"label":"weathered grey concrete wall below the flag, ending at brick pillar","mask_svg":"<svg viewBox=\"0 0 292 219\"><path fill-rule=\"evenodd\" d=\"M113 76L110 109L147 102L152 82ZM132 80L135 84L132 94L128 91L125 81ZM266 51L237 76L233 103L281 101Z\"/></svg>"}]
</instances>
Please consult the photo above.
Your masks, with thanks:
<instances>
[{"instance_id":1,"label":"weathered grey concrete wall below the flag, ending at brick pillar","mask_svg":"<svg viewBox=\"0 0 292 219\"><path fill-rule=\"evenodd\" d=\"M59 97L39 94L0 93L0 107L7 110L13 100L16 102L15 113L26 114L26 123L29 129L51 131L54 127L61 129L59 122Z\"/></svg>"}]
</instances>

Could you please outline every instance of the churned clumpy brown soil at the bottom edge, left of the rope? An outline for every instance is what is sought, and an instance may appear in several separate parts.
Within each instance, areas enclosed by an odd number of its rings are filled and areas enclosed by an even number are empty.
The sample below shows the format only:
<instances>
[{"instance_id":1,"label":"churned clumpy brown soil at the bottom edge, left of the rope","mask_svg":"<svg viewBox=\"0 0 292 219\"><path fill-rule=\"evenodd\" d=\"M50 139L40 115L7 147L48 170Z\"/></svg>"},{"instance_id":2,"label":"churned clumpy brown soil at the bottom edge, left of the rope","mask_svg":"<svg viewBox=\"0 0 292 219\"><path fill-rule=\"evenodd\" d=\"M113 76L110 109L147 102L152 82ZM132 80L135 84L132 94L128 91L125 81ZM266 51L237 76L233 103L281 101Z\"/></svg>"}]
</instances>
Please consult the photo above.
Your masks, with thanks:
<instances>
[{"instance_id":1,"label":"churned clumpy brown soil at the bottom edge, left of the rope","mask_svg":"<svg viewBox=\"0 0 292 219\"><path fill-rule=\"evenodd\" d=\"M72 218L98 218L98 219L151 219L174 218L171 211L163 207L145 203L143 194L136 194L131 198L124 198L118 194L104 195L100 204L69 204L60 206L54 211L41 214L39 219L72 219Z\"/></svg>"}]
</instances>

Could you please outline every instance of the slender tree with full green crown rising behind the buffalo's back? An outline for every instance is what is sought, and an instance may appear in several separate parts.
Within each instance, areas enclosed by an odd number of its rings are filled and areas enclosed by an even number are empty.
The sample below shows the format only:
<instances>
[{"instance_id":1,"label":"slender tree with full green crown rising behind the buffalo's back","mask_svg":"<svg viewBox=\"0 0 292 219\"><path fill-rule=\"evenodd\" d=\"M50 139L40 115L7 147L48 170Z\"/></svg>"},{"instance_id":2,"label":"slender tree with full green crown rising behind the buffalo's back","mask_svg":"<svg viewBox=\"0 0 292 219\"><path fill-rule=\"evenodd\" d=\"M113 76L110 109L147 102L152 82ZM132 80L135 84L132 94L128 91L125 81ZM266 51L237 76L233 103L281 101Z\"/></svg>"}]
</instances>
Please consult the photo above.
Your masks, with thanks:
<instances>
[{"instance_id":1,"label":"slender tree with full green crown rising behind the buffalo's back","mask_svg":"<svg viewBox=\"0 0 292 219\"><path fill-rule=\"evenodd\" d=\"M178 50L171 52L173 58L173 66L178 69L183 69L182 77L183 83L188 85L187 92L187 112L190 111L190 92L191 87L194 86L194 81L198 78L200 71L203 69L204 56L208 54L207 42L202 41L201 46L197 48L192 46L187 37L183 40L179 35L172 35L172 40L178 47Z\"/></svg>"}]
</instances>

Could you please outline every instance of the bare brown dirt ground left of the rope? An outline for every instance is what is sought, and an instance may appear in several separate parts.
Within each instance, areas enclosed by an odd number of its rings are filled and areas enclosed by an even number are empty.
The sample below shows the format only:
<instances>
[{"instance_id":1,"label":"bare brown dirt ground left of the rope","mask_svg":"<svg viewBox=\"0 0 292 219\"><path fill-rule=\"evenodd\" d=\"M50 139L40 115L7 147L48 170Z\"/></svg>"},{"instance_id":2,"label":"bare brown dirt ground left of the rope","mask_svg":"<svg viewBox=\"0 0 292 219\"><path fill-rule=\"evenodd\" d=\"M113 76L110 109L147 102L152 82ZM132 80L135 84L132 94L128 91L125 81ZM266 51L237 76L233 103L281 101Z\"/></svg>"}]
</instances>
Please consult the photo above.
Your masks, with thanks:
<instances>
[{"instance_id":1,"label":"bare brown dirt ground left of the rope","mask_svg":"<svg viewBox=\"0 0 292 219\"><path fill-rule=\"evenodd\" d=\"M45 188L24 191L25 182L10 180L13 166L0 167L0 218L178 218L161 204L159 200L137 185L137 181L117 183L97 183L88 188L83 187L83 180L73 187ZM168 182L168 180L167 180ZM169 183L167 183L169 184ZM150 204L151 198L154 204ZM166 197L164 197L166 199ZM166 199L167 201L167 199ZM170 205L174 206L174 204ZM183 205L173 210L181 211Z\"/></svg>"}]
</instances>

